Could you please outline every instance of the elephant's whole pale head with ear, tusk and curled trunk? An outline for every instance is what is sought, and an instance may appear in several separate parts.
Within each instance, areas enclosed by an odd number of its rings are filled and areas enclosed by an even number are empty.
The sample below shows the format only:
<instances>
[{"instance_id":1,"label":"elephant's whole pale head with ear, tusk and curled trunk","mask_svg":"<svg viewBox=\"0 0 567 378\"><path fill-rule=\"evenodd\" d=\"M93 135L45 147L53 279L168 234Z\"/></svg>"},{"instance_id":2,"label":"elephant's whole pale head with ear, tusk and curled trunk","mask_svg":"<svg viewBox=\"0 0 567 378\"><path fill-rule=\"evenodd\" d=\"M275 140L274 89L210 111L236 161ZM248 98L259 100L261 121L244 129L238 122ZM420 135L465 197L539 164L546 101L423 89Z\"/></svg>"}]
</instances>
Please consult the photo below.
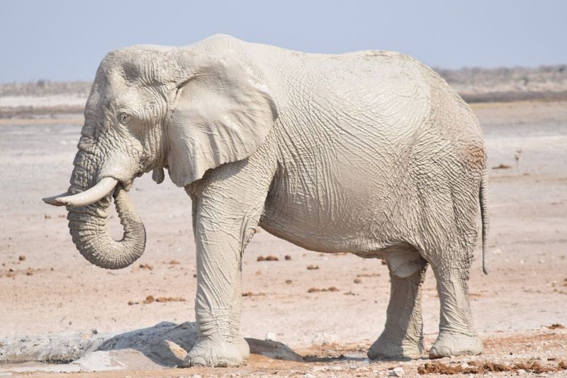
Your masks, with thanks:
<instances>
[{"instance_id":1,"label":"elephant's whole pale head with ear, tusk and curled trunk","mask_svg":"<svg viewBox=\"0 0 567 378\"><path fill-rule=\"evenodd\" d=\"M276 118L262 73L231 38L110 52L86 101L71 185L44 201L67 206L73 242L89 262L127 267L145 248L127 195L133 179L153 170L159 184L167 168L184 187L251 155ZM111 196L124 229L120 241L107 229Z\"/></svg>"}]
</instances>

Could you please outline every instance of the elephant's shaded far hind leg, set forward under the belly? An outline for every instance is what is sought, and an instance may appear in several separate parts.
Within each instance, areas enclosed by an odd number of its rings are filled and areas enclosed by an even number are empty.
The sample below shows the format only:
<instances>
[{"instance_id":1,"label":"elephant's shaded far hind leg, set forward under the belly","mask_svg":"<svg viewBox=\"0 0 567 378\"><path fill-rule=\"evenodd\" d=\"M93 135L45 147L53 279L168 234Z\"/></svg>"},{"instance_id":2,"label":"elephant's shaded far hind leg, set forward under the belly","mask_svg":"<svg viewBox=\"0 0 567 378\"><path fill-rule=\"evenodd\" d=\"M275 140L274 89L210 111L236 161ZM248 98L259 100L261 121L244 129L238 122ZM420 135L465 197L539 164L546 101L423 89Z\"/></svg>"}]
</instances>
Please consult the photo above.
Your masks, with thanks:
<instances>
[{"instance_id":1,"label":"elephant's shaded far hind leg, set forward under the belly","mask_svg":"<svg viewBox=\"0 0 567 378\"><path fill-rule=\"evenodd\" d=\"M403 266L403 256L393 253L390 258L386 255L391 280L386 326L368 350L371 359L415 358L423 352L421 291L427 262L413 250L417 255ZM408 252L407 256L410 255ZM405 277L400 277L400 273Z\"/></svg>"}]
</instances>

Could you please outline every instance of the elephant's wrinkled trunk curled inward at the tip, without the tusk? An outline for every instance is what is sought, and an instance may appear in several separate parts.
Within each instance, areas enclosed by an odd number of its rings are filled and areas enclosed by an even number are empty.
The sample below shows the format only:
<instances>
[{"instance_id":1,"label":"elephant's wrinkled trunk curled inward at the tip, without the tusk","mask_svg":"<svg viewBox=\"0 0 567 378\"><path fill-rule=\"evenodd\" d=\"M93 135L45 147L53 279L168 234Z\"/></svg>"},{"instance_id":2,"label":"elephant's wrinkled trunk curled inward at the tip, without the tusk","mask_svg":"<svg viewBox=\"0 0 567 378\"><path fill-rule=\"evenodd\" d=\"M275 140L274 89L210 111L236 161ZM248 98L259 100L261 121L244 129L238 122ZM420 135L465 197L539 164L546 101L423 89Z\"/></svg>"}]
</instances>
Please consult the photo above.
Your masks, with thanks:
<instances>
[{"instance_id":1,"label":"elephant's wrinkled trunk curled inward at the tip, without the tusk","mask_svg":"<svg viewBox=\"0 0 567 378\"><path fill-rule=\"evenodd\" d=\"M79 143L80 146L81 143ZM75 157L69 194L92 187L94 169L99 166L96 155L80 150ZM144 253L146 233L122 184L114 190L114 202L124 229L122 240L116 241L108 233L108 210L111 196L104 196L88 206L68 206L69 231L77 250L92 264L106 269L128 267Z\"/></svg>"}]
</instances>

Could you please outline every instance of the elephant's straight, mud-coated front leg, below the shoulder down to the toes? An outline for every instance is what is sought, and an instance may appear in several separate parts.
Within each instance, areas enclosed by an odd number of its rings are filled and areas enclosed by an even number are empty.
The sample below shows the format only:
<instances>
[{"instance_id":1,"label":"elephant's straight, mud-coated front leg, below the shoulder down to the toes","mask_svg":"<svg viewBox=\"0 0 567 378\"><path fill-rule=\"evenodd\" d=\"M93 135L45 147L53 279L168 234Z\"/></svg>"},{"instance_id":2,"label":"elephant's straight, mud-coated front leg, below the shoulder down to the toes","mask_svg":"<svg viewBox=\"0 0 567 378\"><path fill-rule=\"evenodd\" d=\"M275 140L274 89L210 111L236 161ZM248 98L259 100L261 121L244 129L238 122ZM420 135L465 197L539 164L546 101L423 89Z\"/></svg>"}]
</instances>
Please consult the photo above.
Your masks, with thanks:
<instances>
[{"instance_id":1,"label":"elephant's straight, mud-coated front leg, below the shoulder down to the toes","mask_svg":"<svg viewBox=\"0 0 567 378\"><path fill-rule=\"evenodd\" d=\"M242 228L247 224L236 224L239 227L219 222L218 217L208 220L203 214L197 216L195 310L199 337L185 358L187 366L237 366L249 355L248 344L240 335Z\"/></svg>"}]
</instances>

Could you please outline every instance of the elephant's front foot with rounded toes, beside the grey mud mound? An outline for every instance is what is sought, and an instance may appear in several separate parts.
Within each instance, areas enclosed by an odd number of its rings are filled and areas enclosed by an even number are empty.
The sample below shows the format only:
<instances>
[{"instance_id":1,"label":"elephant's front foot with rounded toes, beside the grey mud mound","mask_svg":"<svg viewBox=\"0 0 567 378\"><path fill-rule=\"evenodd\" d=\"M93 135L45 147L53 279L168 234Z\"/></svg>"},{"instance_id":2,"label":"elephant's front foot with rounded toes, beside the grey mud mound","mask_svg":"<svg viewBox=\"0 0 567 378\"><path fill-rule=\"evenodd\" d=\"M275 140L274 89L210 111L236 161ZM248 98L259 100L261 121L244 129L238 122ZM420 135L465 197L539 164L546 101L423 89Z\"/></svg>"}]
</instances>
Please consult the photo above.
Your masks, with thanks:
<instances>
[{"instance_id":1,"label":"elephant's front foot with rounded toes, beside the grey mud mound","mask_svg":"<svg viewBox=\"0 0 567 378\"><path fill-rule=\"evenodd\" d=\"M249 347L242 337L234 340L199 338L183 360L183 367L235 367L249 355Z\"/></svg>"}]
</instances>

